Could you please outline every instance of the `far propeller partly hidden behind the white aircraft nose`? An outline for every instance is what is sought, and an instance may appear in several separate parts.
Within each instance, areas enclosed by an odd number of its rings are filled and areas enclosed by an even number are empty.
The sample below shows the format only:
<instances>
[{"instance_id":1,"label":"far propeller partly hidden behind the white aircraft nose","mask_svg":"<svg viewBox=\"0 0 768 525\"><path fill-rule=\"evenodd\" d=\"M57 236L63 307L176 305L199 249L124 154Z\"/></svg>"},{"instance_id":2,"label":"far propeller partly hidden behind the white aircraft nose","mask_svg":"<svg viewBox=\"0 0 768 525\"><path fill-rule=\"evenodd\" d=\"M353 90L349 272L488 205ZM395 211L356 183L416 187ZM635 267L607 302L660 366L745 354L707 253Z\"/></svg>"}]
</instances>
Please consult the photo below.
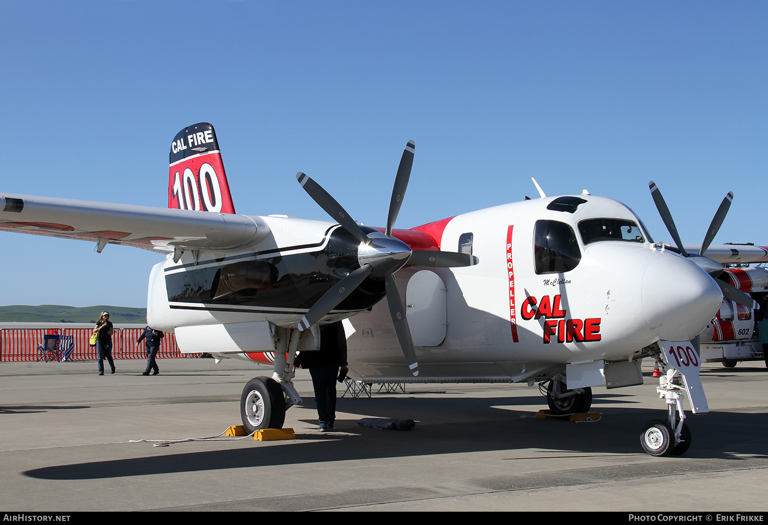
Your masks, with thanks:
<instances>
[{"instance_id":1,"label":"far propeller partly hidden behind the white aircraft nose","mask_svg":"<svg viewBox=\"0 0 768 525\"><path fill-rule=\"evenodd\" d=\"M664 220L664 226L667 226L667 230L669 230L675 245L677 245L677 249L680 250L680 255L687 257L692 263L695 263L697 266L700 266L701 269L707 272L710 277L712 277L712 279L717 282L717 286L720 286L720 290L723 292L723 297L730 299L733 302L737 302L740 305L756 309L758 307L757 303L748 294L733 288L733 286L728 285L726 282L723 282L720 279L717 279L717 276L723 272L723 265L718 263L716 260L710 259L704 255L704 253L707 251L707 248L710 247L712 240L717 235L717 231L720 229L720 226L723 224L723 220L725 220L725 216L728 213L728 209L730 208L730 203L733 201L733 192L728 192L728 194L723 199L723 202L720 203L720 207L717 208L717 212L712 219L712 223L710 223L710 227L707 229L707 234L704 236L704 241L701 244L699 253L688 253L686 249L684 249L683 243L680 241L680 235L677 233L674 220L672 220L672 214L670 213L669 208L667 208L667 203L664 202L664 196L661 195L661 191L653 180L648 183L648 187L650 187L650 195L654 198L654 203L656 203L656 208L659 210L661 219Z\"/></svg>"}]
</instances>

